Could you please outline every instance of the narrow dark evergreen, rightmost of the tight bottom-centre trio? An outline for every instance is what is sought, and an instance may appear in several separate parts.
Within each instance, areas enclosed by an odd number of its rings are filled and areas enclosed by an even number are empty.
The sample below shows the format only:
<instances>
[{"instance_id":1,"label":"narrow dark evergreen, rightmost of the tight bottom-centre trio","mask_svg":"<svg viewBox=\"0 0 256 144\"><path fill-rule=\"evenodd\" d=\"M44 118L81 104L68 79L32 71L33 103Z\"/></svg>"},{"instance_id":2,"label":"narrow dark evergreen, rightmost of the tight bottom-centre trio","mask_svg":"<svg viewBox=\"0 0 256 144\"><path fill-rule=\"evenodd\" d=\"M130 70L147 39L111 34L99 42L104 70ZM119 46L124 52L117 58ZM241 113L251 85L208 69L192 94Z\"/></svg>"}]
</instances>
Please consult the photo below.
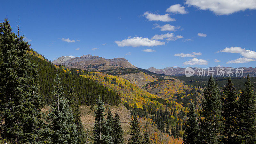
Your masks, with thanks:
<instances>
[{"instance_id":1,"label":"narrow dark evergreen, rightmost of the tight bottom-centre trio","mask_svg":"<svg viewBox=\"0 0 256 144\"><path fill-rule=\"evenodd\" d=\"M124 143L124 131L122 130L121 120L118 112L115 113L113 120L113 143L114 144L123 144Z\"/></svg>"}]
</instances>

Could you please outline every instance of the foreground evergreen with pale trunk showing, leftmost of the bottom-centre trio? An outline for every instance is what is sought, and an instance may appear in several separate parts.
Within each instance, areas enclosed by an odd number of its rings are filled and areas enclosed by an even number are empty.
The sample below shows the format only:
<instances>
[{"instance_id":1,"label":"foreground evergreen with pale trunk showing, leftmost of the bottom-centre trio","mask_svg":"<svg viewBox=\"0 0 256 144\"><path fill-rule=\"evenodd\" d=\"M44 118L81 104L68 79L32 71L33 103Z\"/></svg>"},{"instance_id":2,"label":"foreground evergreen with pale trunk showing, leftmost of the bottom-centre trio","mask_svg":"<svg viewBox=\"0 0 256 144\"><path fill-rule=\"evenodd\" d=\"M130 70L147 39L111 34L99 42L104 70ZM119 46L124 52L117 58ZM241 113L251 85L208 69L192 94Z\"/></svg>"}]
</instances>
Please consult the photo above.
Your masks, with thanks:
<instances>
[{"instance_id":1,"label":"foreground evergreen with pale trunk showing, leftmost of the bottom-centre trio","mask_svg":"<svg viewBox=\"0 0 256 144\"><path fill-rule=\"evenodd\" d=\"M104 116L105 107L102 100L100 100L100 95L96 101L97 106L95 106L95 121L93 128L94 143L95 144L108 144L111 142L111 136L109 135L110 128L106 125L106 120Z\"/></svg>"}]
</instances>

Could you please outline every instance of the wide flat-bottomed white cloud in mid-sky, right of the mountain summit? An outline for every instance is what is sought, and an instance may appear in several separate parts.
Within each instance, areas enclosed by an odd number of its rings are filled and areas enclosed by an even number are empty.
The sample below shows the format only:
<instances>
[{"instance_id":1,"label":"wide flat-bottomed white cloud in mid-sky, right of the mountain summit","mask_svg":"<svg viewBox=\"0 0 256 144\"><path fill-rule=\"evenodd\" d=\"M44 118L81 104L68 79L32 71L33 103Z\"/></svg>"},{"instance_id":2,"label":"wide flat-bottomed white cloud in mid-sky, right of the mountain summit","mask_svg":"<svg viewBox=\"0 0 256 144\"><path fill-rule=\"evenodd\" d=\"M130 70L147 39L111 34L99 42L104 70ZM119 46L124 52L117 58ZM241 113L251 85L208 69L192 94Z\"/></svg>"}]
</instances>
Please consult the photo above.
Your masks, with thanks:
<instances>
[{"instance_id":1,"label":"wide flat-bottomed white cloud in mid-sky, right of the mountain summit","mask_svg":"<svg viewBox=\"0 0 256 144\"><path fill-rule=\"evenodd\" d=\"M148 38L142 37L133 37L130 39L125 39L122 41L115 41L118 47L125 47L125 46L132 46L132 47L140 47L140 46L160 46L164 45L165 42L158 41L158 40L149 40Z\"/></svg>"}]
</instances>

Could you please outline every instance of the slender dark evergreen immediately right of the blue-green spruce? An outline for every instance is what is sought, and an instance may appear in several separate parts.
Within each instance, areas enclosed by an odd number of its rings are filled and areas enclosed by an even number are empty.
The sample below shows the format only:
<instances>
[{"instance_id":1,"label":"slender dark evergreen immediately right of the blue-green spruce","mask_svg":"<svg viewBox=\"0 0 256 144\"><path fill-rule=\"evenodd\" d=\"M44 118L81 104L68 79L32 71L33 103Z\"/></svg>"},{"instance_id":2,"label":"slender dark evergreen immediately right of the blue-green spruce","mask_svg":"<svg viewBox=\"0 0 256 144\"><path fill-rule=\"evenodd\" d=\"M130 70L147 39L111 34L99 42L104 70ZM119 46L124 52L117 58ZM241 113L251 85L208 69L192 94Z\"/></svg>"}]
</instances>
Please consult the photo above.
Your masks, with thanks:
<instances>
[{"instance_id":1,"label":"slender dark evergreen immediately right of the blue-green spruce","mask_svg":"<svg viewBox=\"0 0 256 144\"><path fill-rule=\"evenodd\" d=\"M85 133L84 133L84 127L82 125L81 121L81 112L79 109L77 97L75 95L74 88L71 87L68 95L68 105L72 110L72 114L74 117L74 123L76 124L76 131L78 133L78 144L85 143Z\"/></svg>"}]
</instances>

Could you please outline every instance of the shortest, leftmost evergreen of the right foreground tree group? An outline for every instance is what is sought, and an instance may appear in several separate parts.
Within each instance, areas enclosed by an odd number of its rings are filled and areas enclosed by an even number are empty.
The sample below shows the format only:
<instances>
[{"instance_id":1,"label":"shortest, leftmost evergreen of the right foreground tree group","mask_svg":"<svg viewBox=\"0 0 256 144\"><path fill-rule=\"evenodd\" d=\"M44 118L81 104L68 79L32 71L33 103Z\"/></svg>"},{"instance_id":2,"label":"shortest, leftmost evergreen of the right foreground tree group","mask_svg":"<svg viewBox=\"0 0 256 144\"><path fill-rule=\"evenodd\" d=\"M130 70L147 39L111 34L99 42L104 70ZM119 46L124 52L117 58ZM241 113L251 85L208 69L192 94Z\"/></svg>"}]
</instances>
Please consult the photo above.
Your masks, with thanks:
<instances>
[{"instance_id":1,"label":"shortest, leftmost evergreen of the right foreground tree group","mask_svg":"<svg viewBox=\"0 0 256 144\"><path fill-rule=\"evenodd\" d=\"M188 112L188 119L185 122L183 135L183 144L195 144L198 143L198 122L196 120L196 113L194 104L191 104Z\"/></svg>"}]
</instances>

